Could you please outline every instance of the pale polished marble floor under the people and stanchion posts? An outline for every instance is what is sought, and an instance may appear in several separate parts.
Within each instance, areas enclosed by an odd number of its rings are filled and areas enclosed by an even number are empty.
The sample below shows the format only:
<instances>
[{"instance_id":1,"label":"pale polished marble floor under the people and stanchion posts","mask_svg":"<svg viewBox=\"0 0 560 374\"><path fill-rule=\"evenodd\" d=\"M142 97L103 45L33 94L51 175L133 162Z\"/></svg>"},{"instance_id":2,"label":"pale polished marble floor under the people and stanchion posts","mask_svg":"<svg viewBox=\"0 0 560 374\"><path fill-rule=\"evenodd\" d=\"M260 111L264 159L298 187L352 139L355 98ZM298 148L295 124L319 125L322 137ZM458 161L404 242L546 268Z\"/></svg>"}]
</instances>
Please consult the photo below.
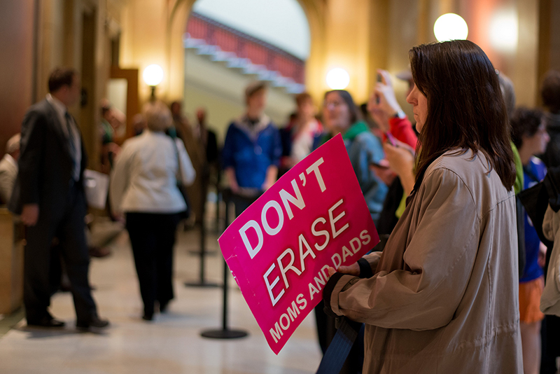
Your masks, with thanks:
<instances>
[{"instance_id":1,"label":"pale polished marble floor under the people and stanchion posts","mask_svg":"<svg viewBox=\"0 0 560 374\"><path fill-rule=\"evenodd\" d=\"M99 314L111 321L103 333L74 328L69 293L52 298L51 312L66 321L52 331L27 328L25 319L0 338L0 373L4 374L241 374L314 373L321 361L314 316L310 314L276 356L230 278L229 326L249 333L235 340L202 338L221 328L221 288L186 287L199 277L198 233L178 233L176 298L167 314L141 319L141 300L126 231L111 242L112 254L94 258L90 281ZM209 235L207 280L221 282L222 257L216 235Z\"/></svg>"}]
</instances>

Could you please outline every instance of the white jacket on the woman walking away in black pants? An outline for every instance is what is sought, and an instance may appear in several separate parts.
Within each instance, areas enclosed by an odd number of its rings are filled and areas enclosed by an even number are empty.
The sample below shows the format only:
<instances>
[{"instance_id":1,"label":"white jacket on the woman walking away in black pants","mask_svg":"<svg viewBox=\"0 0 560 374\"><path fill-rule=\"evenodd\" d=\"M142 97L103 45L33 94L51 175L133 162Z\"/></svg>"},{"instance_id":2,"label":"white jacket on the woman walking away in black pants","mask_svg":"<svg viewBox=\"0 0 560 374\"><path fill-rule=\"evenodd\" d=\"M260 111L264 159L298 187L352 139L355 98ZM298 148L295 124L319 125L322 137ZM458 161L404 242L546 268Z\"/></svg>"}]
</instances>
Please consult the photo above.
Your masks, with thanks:
<instances>
[{"instance_id":1,"label":"white jacket on the woman walking away in black pants","mask_svg":"<svg viewBox=\"0 0 560 374\"><path fill-rule=\"evenodd\" d=\"M125 141L111 173L115 212L172 214L186 209L177 181L189 185L196 174L183 141L175 144L165 133L150 130Z\"/></svg>"}]
</instances>

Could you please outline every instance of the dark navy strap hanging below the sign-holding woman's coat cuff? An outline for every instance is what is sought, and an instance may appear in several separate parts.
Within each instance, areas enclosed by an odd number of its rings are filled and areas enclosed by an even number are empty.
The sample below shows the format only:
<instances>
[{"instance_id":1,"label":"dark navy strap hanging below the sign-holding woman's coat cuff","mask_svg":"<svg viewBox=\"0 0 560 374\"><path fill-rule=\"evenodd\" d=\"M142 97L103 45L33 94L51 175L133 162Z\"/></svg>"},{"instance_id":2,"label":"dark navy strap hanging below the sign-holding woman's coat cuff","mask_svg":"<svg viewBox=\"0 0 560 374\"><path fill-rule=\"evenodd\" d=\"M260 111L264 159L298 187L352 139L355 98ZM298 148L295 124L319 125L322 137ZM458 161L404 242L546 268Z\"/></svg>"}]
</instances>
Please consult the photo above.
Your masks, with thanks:
<instances>
[{"instance_id":1,"label":"dark navy strap hanging below the sign-holding woman's coat cuff","mask_svg":"<svg viewBox=\"0 0 560 374\"><path fill-rule=\"evenodd\" d=\"M352 321L346 317L340 317L335 337L327 348L327 352L323 355L323 359L319 364L317 374L339 374L350 349L356 341L358 332L362 324Z\"/></svg>"}]
</instances>

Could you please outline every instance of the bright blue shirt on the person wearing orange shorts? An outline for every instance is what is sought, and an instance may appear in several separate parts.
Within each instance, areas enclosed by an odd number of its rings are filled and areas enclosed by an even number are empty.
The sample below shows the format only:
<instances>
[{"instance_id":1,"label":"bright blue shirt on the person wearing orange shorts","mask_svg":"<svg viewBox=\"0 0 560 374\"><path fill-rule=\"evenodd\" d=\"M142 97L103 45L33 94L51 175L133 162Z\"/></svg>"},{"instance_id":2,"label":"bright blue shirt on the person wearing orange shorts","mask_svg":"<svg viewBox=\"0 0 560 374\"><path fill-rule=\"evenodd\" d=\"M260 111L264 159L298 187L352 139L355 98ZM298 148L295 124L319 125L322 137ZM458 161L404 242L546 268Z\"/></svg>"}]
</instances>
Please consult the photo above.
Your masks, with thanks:
<instances>
[{"instance_id":1,"label":"bright blue shirt on the person wearing orange shorts","mask_svg":"<svg viewBox=\"0 0 560 374\"><path fill-rule=\"evenodd\" d=\"M536 157L531 158L529 163L523 167L524 186L523 188L530 188L536 183L542 181L547 174L545 164ZM533 226L533 222L528 218L527 213L524 213L525 222L525 269L523 276L519 282L529 282L533 279L540 277L542 268L538 265L538 252L540 247L540 239L537 235L537 230Z\"/></svg>"}]
</instances>

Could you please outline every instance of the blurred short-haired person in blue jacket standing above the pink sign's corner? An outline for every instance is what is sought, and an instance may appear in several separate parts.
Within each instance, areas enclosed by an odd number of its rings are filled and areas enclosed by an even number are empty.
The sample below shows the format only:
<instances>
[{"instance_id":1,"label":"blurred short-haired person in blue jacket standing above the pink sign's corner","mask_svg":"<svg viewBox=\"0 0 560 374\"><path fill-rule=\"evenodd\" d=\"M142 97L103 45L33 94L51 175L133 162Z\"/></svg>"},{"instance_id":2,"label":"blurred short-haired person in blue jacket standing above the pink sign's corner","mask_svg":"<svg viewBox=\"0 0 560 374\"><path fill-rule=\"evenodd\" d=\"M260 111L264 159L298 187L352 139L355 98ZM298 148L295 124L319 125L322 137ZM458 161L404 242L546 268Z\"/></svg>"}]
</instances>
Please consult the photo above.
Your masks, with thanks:
<instances>
[{"instance_id":1,"label":"blurred short-haired person in blue jacket standing above the pink sign's corner","mask_svg":"<svg viewBox=\"0 0 560 374\"><path fill-rule=\"evenodd\" d=\"M266 84L250 83L245 103L246 112L228 127L222 151L225 177L235 195L235 216L274 184L282 154L280 132L264 113Z\"/></svg>"}]
</instances>

